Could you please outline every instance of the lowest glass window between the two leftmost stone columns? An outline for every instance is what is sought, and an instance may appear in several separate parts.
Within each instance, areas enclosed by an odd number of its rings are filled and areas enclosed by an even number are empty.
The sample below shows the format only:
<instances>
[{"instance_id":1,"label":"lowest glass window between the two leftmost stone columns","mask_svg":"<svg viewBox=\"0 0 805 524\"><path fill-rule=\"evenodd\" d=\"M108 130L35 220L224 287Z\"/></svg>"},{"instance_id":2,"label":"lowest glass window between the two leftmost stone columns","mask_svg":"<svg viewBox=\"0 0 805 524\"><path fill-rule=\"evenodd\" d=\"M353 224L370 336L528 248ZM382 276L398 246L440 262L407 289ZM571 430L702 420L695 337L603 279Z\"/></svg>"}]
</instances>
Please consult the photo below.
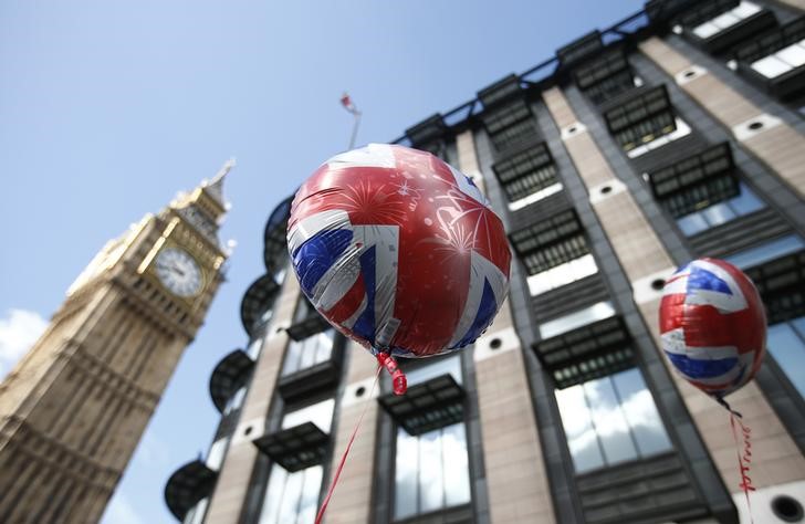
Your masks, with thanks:
<instances>
[{"instance_id":1,"label":"lowest glass window between the two leftmost stone columns","mask_svg":"<svg viewBox=\"0 0 805 524\"><path fill-rule=\"evenodd\" d=\"M259 524L312 524L318 509L322 476L321 465L293 473L274 465Z\"/></svg>"}]
</instances>

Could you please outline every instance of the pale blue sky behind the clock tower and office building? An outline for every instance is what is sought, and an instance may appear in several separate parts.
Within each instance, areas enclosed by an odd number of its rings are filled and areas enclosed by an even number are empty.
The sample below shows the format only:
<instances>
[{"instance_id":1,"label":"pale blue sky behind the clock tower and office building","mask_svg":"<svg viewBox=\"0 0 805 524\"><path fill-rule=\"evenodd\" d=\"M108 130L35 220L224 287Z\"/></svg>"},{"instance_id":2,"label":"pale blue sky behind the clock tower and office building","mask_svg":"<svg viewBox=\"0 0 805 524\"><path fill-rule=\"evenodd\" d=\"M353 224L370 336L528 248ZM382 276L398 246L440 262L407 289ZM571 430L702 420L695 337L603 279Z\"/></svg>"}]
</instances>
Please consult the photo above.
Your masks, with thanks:
<instances>
[{"instance_id":1,"label":"pale blue sky behind the clock tower and office building","mask_svg":"<svg viewBox=\"0 0 805 524\"><path fill-rule=\"evenodd\" d=\"M207 384L243 345L276 202L349 138L388 142L638 0L0 3L0 375L107 239L229 157L229 281L186 352L104 516L174 522L170 473L206 450Z\"/></svg>"}]
</instances>

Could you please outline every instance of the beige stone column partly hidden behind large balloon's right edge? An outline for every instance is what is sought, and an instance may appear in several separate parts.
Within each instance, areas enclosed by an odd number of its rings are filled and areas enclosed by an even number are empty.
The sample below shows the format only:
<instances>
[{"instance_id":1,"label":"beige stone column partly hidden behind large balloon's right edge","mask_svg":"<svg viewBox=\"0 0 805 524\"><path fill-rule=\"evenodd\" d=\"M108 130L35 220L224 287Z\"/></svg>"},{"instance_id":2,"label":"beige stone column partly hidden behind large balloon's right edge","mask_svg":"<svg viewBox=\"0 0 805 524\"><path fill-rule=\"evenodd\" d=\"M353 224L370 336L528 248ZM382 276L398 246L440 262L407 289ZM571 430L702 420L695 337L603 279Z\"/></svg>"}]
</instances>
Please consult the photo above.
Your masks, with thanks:
<instances>
[{"instance_id":1,"label":"beige stone column partly hidden behind large balloon's right edge","mask_svg":"<svg viewBox=\"0 0 805 524\"><path fill-rule=\"evenodd\" d=\"M472 132L457 138L459 169L483 181ZM478 408L491 521L553 523L554 511L509 301L474 344Z\"/></svg>"}]
</instances>

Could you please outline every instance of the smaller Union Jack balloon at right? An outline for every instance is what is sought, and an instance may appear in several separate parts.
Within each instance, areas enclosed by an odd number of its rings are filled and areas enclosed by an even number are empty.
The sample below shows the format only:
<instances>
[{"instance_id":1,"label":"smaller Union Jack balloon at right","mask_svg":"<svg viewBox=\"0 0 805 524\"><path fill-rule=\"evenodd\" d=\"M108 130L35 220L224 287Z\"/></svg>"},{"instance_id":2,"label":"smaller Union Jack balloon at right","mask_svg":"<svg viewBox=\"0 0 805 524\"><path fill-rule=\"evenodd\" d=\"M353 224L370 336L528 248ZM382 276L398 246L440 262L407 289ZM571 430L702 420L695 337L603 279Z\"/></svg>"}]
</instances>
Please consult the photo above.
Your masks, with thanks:
<instances>
[{"instance_id":1,"label":"smaller Union Jack balloon at right","mask_svg":"<svg viewBox=\"0 0 805 524\"><path fill-rule=\"evenodd\" d=\"M690 384L719 399L749 382L765 354L766 317L752 281L722 260L694 260L667 282L662 349Z\"/></svg>"}]
</instances>

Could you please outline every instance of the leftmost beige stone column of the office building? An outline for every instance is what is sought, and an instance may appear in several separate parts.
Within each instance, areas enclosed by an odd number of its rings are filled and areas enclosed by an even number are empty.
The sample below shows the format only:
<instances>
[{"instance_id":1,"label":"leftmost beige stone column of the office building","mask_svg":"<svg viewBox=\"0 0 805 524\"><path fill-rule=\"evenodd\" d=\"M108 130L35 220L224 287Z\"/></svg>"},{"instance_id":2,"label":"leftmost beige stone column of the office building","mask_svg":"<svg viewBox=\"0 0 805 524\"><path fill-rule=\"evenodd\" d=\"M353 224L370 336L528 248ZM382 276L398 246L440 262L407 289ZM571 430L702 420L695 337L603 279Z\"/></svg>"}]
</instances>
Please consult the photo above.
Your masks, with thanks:
<instances>
[{"instance_id":1,"label":"leftmost beige stone column of the office building","mask_svg":"<svg viewBox=\"0 0 805 524\"><path fill-rule=\"evenodd\" d=\"M261 437L265 430L265 418L271 407L282 356L289 342L284 328L291 325L299 297L299 283L289 273L282 292L276 298L274 317L265 333L260 358L254 365L238 428L232 434L227 457L218 472L218 481L210 497L206 522L234 524L245 504L249 482L259 453L252 440Z\"/></svg>"}]
</instances>

